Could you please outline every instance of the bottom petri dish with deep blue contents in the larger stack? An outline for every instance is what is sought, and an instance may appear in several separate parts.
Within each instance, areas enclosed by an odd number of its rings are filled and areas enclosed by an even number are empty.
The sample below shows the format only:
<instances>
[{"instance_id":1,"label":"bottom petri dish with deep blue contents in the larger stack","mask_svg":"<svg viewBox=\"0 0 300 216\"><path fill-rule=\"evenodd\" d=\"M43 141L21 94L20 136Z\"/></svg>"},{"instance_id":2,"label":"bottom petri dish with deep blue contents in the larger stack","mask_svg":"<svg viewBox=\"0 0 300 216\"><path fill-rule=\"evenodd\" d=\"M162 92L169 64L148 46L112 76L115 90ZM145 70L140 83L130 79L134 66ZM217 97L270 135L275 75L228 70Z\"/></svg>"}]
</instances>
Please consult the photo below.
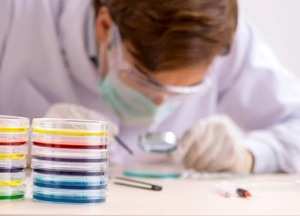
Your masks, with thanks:
<instances>
[{"instance_id":1,"label":"bottom petri dish with deep blue contents in the larger stack","mask_svg":"<svg viewBox=\"0 0 300 216\"><path fill-rule=\"evenodd\" d=\"M66 190L32 186L32 196L36 201L61 204L93 204L106 202L107 189Z\"/></svg>"}]
</instances>

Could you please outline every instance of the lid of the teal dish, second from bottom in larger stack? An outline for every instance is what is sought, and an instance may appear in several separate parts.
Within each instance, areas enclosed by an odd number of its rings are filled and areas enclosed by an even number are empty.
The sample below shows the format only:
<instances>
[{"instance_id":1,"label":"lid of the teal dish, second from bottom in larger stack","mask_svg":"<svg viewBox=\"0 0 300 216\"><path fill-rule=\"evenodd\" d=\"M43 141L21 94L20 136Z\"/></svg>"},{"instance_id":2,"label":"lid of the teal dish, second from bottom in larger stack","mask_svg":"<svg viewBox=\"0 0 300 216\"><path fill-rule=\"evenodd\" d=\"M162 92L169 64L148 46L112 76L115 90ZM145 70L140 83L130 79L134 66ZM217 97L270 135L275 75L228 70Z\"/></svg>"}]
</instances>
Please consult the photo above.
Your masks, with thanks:
<instances>
[{"instance_id":1,"label":"lid of the teal dish, second from bottom in larger stack","mask_svg":"<svg viewBox=\"0 0 300 216\"><path fill-rule=\"evenodd\" d=\"M55 185L107 185L108 176L67 176L32 172L31 180Z\"/></svg>"}]
</instances>

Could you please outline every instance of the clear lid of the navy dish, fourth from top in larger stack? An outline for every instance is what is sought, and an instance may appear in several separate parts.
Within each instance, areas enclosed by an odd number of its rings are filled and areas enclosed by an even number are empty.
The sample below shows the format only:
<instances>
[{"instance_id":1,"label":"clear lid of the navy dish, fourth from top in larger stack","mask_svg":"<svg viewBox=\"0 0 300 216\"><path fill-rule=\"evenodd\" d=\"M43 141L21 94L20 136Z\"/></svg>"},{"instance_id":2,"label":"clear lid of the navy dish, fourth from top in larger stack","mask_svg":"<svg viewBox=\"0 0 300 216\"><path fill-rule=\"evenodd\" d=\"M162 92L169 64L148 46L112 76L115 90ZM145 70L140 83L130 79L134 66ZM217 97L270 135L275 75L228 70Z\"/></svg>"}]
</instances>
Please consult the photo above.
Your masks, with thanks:
<instances>
[{"instance_id":1,"label":"clear lid of the navy dish, fourth from top in larger stack","mask_svg":"<svg viewBox=\"0 0 300 216\"><path fill-rule=\"evenodd\" d=\"M57 162L32 159L31 168L67 172L103 172L108 170L108 163Z\"/></svg>"}]
</instances>

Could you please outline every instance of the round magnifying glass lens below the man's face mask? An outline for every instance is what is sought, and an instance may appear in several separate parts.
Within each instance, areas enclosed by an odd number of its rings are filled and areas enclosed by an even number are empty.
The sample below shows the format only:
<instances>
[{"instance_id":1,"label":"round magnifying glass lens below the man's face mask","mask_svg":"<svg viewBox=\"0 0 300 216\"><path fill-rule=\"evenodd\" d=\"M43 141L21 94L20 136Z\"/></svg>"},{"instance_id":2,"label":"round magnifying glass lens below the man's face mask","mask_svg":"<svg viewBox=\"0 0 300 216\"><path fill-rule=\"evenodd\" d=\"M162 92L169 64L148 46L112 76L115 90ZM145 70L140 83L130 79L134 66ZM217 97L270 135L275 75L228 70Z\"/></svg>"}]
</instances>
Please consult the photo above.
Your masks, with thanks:
<instances>
[{"instance_id":1,"label":"round magnifying glass lens below the man's face mask","mask_svg":"<svg viewBox=\"0 0 300 216\"><path fill-rule=\"evenodd\" d=\"M154 132L139 136L139 147L147 153L170 153L177 149L177 138L172 132Z\"/></svg>"}]
</instances>

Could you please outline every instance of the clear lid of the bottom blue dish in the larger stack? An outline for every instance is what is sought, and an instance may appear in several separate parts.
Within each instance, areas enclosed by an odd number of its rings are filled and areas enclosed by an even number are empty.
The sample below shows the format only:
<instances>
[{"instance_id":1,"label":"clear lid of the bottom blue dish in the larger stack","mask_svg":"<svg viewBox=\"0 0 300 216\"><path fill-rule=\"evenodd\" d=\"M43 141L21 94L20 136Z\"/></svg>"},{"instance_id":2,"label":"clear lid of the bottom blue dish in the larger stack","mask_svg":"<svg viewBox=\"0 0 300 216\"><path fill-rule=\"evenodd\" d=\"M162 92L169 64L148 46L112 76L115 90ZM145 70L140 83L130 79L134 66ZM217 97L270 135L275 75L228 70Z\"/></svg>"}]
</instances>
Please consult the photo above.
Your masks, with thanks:
<instances>
[{"instance_id":1,"label":"clear lid of the bottom blue dish in the larger stack","mask_svg":"<svg viewBox=\"0 0 300 216\"><path fill-rule=\"evenodd\" d=\"M100 190L71 190L32 186L32 195L64 199L102 199L107 197L107 188Z\"/></svg>"}]
</instances>

